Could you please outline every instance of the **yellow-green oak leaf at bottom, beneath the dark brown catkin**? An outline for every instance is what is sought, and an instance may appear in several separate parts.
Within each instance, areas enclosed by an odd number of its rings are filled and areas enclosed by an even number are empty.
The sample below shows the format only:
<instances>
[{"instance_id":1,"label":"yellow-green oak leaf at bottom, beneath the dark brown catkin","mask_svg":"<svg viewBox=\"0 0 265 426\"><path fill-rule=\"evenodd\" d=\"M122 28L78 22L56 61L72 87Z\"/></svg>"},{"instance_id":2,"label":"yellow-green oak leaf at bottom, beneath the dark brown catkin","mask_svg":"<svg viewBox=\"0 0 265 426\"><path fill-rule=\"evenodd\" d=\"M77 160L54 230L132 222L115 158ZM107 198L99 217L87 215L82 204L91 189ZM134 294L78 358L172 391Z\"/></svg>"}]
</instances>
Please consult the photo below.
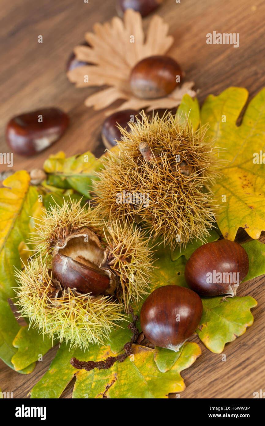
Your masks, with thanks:
<instances>
[{"instance_id":1,"label":"yellow-green oak leaf at bottom, beneath the dark brown catkin","mask_svg":"<svg viewBox=\"0 0 265 426\"><path fill-rule=\"evenodd\" d=\"M63 345L62 345L63 346ZM92 345L89 351L68 351L61 347L50 368L31 391L31 398L59 398L71 379L76 376L73 398L166 398L168 393L181 392L185 383L180 372L191 366L200 355L196 343L187 343L176 362L166 372L157 368L154 349L133 345L133 353L123 363L114 363L108 370L76 370L70 364L72 356L80 360L103 360L115 356L111 349Z\"/></svg>"}]
</instances>

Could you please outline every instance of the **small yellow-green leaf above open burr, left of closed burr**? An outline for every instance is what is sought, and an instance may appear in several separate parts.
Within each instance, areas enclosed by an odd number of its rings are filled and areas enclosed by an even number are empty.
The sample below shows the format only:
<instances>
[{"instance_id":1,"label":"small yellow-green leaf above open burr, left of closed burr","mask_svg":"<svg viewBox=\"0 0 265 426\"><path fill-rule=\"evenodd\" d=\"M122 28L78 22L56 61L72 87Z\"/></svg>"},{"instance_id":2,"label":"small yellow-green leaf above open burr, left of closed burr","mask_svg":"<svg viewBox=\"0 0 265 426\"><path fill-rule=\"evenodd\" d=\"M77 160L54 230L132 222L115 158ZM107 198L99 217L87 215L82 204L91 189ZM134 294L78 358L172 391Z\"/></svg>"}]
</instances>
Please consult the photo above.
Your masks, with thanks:
<instances>
[{"instance_id":1,"label":"small yellow-green leaf above open burr, left of closed burr","mask_svg":"<svg viewBox=\"0 0 265 426\"><path fill-rule=\"evenodd\" d=\"M101 167L100 159L95 158L89 151L69 158L65 158L65 154L60 152L51 155L43 165L43 169L48 173L48 185L73 188L87 198L91 198L92 180L96 179L95 173Z\"/></svg>"}]
</instances>

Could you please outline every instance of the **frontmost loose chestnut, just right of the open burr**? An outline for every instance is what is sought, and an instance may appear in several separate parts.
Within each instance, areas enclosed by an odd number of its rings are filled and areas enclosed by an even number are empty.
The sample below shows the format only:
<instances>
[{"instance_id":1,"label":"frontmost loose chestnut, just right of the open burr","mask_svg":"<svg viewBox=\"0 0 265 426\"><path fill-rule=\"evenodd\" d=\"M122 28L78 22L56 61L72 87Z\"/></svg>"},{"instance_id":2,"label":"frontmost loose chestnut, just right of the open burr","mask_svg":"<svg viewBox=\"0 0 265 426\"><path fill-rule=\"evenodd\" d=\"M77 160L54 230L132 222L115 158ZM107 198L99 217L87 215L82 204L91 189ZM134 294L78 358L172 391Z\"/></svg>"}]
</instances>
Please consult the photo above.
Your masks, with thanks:
<instances>
[{"instance_id":1,"label":"frontmost loose chestnut, just right of the open burr","mask_svg":"<svg viewBox=\"0 0 265 426\"><path fill-rule=\"evenodd\" d=\"M143 303L140 323L151 343L177 352L194 334L201 317L202 301L197 293L178 285L165 285Z\"/></svg>"}]
</instances>

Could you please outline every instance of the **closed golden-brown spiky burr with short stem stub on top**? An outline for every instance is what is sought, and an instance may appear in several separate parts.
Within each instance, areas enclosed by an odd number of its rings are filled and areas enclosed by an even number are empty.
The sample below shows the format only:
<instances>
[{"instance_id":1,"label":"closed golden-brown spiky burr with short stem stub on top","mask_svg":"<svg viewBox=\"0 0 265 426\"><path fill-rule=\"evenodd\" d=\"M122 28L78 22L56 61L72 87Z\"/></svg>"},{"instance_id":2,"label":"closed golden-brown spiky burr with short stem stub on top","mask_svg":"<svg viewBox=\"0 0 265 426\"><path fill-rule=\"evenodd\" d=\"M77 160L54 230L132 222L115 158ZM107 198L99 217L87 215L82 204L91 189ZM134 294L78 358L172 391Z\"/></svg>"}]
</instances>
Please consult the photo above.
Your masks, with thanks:
<instances>
[{"instance_id":1,"label":"closed golden-brown spiky burr with short stem stub on top","mask_svg":"<svg viewBox=\"0 0 265 426\"><path fill-rule=\"evenodd\" d=\"M140 220L171 248L207 235L217 207L209 186L220 161L206 130L195 132L171 113L151 120L142 113L103 159L94 182L101 214Z\"/></svg>"}]
</instances>

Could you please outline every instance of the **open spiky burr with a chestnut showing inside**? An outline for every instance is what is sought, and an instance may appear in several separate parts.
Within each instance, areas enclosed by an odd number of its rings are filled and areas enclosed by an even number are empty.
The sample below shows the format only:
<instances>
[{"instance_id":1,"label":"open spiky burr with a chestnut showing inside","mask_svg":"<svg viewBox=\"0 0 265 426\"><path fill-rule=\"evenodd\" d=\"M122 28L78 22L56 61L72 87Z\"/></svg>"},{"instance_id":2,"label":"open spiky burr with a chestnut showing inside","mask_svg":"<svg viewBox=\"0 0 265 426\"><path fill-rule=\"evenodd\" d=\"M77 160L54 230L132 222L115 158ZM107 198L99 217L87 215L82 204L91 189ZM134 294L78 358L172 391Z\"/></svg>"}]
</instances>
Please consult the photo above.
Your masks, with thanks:
<instances>
[{"instance_id":1,"label":"open spiky burr with a chestnut showing inside","mask_svg":"<svg viewBox=\"0 0 265 426\"><path fill-rule=\"evenodd\" d=\"M132 225L103 222L97 208L51 207L33 242L36 258L16 274L17 298L21 314L50 337L83 349L102 343L147 291L148 241Z\"/></svg>"}]
</instances>

